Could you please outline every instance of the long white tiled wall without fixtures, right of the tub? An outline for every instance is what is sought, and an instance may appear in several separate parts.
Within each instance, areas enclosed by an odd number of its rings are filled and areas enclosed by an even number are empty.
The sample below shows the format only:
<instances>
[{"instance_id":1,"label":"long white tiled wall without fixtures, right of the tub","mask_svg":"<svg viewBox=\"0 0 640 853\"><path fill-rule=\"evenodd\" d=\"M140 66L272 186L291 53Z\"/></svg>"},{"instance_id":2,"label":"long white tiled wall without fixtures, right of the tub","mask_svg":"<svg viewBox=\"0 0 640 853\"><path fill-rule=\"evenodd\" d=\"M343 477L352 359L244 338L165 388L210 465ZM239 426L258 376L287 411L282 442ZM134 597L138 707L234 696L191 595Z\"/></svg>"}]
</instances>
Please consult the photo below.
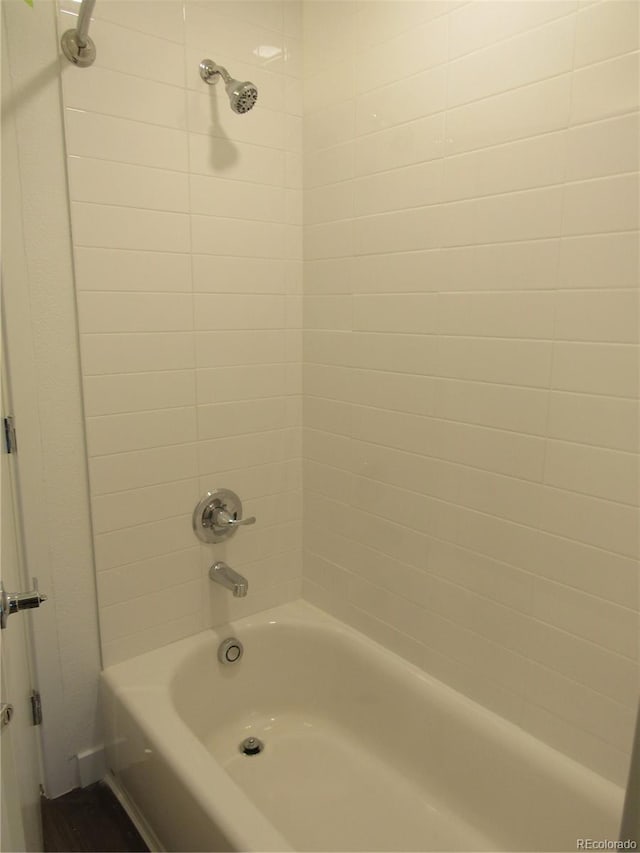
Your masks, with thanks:
<instances>
[{"instance_id":1,"label":"long white tiled wall without fixtures, right of the tub","mask_svg":"<svg viewBox=\"0 0 640 853\"><path fill-rule=\"evenodd\" d=\"M623 782L638 4L305 3L305 596Z\"/></svg>"}]
</instances>

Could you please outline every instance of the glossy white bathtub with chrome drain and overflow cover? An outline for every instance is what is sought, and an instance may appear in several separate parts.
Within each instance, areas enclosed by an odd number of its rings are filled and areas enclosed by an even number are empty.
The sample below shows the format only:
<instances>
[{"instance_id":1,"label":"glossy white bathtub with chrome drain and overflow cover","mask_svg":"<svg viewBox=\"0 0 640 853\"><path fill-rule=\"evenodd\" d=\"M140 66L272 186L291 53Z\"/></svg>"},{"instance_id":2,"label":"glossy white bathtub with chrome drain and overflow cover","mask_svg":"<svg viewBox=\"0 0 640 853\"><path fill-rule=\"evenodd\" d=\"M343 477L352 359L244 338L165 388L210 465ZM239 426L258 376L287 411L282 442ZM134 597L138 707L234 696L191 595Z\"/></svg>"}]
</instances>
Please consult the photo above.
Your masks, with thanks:
<instances>
[{"instance_id":1,"label":"glossy white bathtub with chrome drain and overflow cover","mask_svg":"<svg viewBox=\"0 0 640 853\"><path fill-rule=\"evenodd\" d=\"M230 635L244 656L223 665ZM158 849L617 838L620 788L305 602L109 667L101 690L110 772Z\"/></svg>"}]
</instances>

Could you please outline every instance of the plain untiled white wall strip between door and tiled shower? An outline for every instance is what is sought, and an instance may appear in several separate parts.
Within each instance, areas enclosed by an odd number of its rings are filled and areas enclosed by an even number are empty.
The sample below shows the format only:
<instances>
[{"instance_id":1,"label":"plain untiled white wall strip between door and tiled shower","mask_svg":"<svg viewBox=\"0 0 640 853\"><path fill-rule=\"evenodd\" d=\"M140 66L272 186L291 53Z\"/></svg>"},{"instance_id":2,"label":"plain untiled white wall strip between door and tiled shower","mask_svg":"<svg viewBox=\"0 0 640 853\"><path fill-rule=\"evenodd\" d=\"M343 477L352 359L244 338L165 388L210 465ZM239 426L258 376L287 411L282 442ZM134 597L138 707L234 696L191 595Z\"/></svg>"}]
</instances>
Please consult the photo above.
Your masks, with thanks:
<instances>
[{"instance_id":1,"label":"plain untiled white wall strip between door and tiled shower","mask_svg":"<svg viewBox=\"0 0 640 853\"><path fill-rule=\"evenodd\" d=\"M2 275L48 796L100 743L100 648L53 3L6 0ZM5 40L6 38L6 40ZM27 618L24 616L22 618Z\"/></svg>"}]
</instances>

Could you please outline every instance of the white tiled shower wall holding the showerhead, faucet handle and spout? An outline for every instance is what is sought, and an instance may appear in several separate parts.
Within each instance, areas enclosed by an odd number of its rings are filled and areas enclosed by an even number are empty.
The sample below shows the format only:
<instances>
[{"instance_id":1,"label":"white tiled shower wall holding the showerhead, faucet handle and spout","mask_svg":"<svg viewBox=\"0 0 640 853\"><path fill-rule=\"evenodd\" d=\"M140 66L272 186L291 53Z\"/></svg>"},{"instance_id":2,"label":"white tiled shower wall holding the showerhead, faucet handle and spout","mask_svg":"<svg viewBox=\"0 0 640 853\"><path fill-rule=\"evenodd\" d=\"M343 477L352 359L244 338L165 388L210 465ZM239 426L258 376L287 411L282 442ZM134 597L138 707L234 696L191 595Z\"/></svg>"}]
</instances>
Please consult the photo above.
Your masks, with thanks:
<instances>
[{"instance_id":1,"label":"white tiled shower wall holding the showerhead, faucet handle and spout","mask_svg":"<svg viewBox=\"0 0 640 853\"><path fill-rule=\"evenodd\" d=\"M95 65L63 67L105 664L299 594L300 27L296 2L100 0ZM260 108L232 113L205 57ZM258 524L200 546L220 487Z\"/></svg>"}]
</instances>

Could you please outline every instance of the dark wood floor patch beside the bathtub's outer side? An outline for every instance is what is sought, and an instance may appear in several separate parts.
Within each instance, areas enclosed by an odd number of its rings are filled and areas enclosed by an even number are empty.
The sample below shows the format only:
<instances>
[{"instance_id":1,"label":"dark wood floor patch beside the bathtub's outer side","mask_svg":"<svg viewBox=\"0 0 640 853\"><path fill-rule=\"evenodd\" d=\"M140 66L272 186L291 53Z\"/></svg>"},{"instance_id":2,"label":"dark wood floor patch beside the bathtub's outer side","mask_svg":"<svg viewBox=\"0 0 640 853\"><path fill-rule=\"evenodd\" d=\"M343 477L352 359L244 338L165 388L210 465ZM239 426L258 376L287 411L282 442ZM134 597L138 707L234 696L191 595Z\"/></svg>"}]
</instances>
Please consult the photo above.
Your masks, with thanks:
<instances>
[{"instance_id":1,"label":"dark wood floor patch beside the bathtub's outer side","mask_svg":"<svg viewBox=\"0 0 640 853\"><path fill-rule=\"evenodd\" d=\"M55 800L42 798L45 853L147 851L138 830L104 782Z\"/></svg>"}]
</instances>

